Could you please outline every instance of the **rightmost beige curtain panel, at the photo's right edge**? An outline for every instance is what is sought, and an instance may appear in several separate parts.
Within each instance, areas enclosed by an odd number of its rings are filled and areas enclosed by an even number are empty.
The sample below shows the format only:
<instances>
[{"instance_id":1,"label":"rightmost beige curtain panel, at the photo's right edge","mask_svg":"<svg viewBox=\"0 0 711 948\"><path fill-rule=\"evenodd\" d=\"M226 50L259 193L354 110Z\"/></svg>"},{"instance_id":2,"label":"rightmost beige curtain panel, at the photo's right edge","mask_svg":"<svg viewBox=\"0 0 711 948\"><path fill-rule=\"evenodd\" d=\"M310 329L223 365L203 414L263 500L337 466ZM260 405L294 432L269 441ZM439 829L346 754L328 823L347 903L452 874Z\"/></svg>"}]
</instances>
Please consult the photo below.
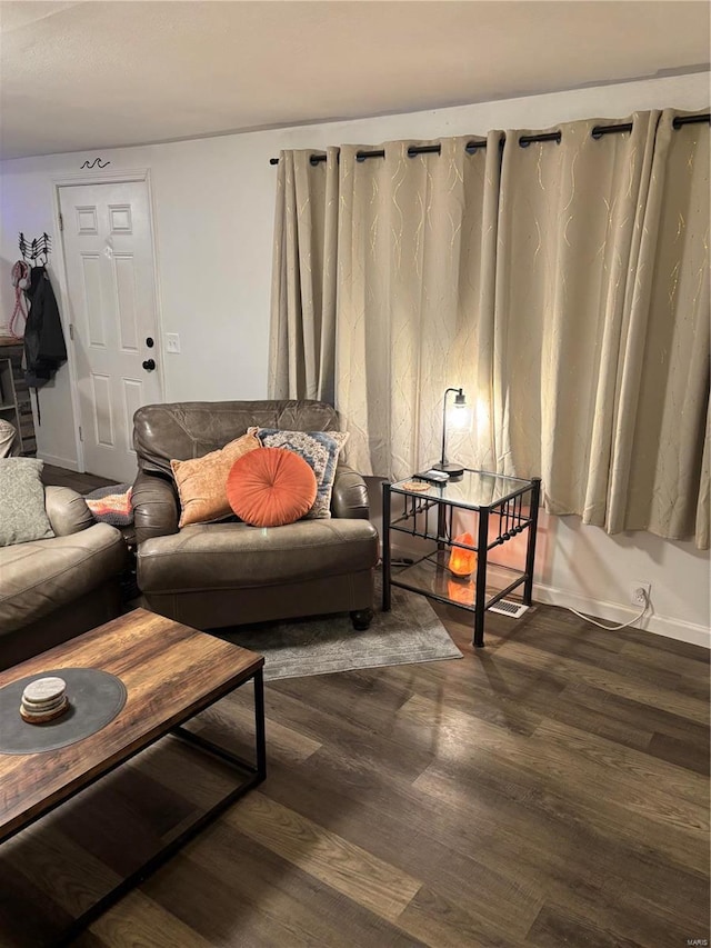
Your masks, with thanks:
<instances>
[{"instance_id":1,"label":"rightmost beige curtain panel, at the photo's right edge","mask_svg":"<svg viewBox=\"0 0 711 948\"><path fill-rule=\"evenodd\" d=\"M709 547L709 126L659 121L619 356L605 527ZM705 459L705 460L704 460Z\"/></svg>"}]
</instances>

